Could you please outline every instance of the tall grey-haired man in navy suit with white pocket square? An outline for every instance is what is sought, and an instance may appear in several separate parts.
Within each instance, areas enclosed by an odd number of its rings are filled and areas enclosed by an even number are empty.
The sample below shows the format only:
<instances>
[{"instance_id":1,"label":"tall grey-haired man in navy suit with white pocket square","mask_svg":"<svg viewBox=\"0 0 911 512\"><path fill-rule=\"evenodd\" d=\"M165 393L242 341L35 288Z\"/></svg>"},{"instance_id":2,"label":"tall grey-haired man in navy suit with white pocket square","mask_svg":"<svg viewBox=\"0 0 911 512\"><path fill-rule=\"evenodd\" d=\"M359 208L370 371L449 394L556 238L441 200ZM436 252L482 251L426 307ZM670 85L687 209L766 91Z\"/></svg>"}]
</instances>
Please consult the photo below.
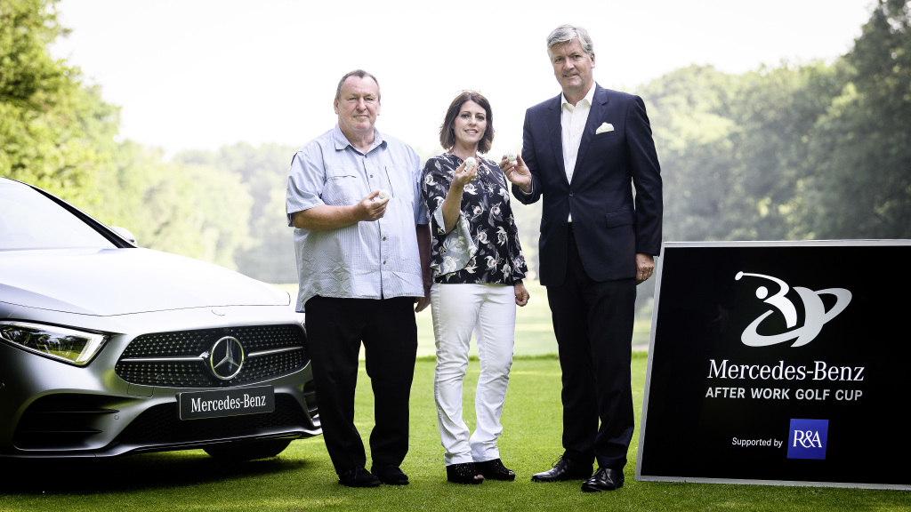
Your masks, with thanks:
<instances>
[{"instance_id":1,"label":"tall grey-haired man in navy suit with white pocket square","mask_svg":"<svg viewBox=\"0 0 911 512\"><path fill-rule=\"evenodd\" d=\"M563 92L528 108L522 154L500 162L517 200L544 198L539 274L563 374L564 453L532 480L613 490L634 427L636 285L660 253L660 167L642 99L595 83L584 28L559 26L548 56Z\"/></svg>"}]
</instances>

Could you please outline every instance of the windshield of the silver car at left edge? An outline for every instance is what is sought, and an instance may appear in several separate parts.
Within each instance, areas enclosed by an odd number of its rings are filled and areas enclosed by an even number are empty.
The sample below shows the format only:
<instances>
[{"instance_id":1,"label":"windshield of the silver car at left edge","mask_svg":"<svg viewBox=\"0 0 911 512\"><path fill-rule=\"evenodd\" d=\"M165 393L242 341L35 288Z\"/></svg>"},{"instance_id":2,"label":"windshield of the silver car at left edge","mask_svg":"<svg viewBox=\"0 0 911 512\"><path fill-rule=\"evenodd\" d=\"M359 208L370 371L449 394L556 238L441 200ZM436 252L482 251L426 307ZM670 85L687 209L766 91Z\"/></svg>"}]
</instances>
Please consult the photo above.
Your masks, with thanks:
<instances>
[{"instance_id":1,"label":"windshield of the silver car at left edge","mask_svg":"<svg viewBox=\"0 0 911 512\"><path fill-rule=\"evenodd\" d=\"M116 246L35 189L0 179L0 251L73 247Z\"/></svg>"}]
</instances>

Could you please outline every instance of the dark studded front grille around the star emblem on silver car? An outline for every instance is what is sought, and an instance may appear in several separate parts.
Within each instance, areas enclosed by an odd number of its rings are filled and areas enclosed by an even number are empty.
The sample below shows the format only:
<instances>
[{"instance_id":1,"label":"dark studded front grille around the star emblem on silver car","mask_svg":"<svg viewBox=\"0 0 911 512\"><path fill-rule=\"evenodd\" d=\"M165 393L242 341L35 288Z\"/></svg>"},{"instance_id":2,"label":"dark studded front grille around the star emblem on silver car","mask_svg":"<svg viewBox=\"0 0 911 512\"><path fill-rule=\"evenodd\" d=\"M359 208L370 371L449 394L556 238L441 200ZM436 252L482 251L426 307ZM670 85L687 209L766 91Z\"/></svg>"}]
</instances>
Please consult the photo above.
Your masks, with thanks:
<instances>
[{"instance_id":1,"label":"dark studded front grille around the star emblem on silver car","mask_svg":"<svg viewBox=\"0 0 911 512\"><path fill-rule=\"evenodd\" d=\"M237 339L244 353L240 372L228 379L217 376L210 362L225 336ZM130 384L230 387L292 374L308 362L301 327L264 325L143 334L129 343L115 372Z\"/></svg>"}]
</instances>

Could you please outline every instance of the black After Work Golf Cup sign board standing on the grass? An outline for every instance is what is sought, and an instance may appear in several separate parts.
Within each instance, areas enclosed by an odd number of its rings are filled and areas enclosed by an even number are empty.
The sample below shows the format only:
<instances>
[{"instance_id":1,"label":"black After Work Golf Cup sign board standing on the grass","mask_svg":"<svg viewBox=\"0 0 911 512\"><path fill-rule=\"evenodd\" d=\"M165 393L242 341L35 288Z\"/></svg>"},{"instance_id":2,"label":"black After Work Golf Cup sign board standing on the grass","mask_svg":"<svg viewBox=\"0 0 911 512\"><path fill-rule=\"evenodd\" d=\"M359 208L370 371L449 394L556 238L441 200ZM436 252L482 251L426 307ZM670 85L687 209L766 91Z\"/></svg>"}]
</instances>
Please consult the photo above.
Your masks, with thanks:
<instances>
[{"instance_id":1,"label":"black After Work Golf Cup sign board standing on the grass","mask_svg":"<svg viewBox=\"0 0 911 512\"><path fill-rule=\"evenodd\" d=\"M911 489L911 241L666 243L636 478Z\"/></svg>"}]
</instances>

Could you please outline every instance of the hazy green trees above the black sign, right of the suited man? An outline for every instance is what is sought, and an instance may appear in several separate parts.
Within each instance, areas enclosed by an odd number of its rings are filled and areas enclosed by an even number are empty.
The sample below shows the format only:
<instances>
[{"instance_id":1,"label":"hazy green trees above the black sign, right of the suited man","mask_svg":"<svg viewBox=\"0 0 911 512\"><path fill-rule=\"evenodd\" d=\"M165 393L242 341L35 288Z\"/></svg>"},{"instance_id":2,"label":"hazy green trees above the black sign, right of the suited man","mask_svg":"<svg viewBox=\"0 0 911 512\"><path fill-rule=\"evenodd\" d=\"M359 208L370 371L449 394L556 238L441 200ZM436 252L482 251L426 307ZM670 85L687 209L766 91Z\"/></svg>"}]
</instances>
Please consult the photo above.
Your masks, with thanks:
<instances>
[{"instance_id":1,"label":"hazy green trees above the black sign, right of the suited man","mask_svg":"<svg viewBox=\"0 0 911 512\"><path fill-rule=\"evenodd\" d=\"M832 65L678 69L639 91L665 240L911 238L911 30L881 1Z\"/></svg>"}]
</instances>

